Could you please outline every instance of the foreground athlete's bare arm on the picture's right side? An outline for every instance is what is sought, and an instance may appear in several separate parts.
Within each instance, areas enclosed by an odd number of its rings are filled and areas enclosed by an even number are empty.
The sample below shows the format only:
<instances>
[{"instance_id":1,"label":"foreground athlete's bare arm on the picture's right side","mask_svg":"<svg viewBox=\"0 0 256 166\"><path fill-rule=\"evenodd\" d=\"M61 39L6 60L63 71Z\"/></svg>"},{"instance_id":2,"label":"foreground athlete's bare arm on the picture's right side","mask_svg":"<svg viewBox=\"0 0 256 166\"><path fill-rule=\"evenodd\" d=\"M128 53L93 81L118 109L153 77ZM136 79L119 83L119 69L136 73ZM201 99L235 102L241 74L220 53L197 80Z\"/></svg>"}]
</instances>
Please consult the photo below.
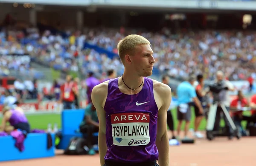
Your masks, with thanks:
<instances>
[{"instance_id":1,"label":"foreground athlete's bare arm on the picture's right side","mask_svg":"<svg viewBox=\"0 0 256 166\"><path fill-rule=\"evenodd\" d=\"M169 166L169 139L167 134L167 111L172 100L172 90L171 88L162 83L159 84L157 88L154 88L157 92L157 96L162 101L162 106L158 110L157 118L157 139L156 145L159 152L158 163L160 166Z\"/></svg>"}]
</instances>

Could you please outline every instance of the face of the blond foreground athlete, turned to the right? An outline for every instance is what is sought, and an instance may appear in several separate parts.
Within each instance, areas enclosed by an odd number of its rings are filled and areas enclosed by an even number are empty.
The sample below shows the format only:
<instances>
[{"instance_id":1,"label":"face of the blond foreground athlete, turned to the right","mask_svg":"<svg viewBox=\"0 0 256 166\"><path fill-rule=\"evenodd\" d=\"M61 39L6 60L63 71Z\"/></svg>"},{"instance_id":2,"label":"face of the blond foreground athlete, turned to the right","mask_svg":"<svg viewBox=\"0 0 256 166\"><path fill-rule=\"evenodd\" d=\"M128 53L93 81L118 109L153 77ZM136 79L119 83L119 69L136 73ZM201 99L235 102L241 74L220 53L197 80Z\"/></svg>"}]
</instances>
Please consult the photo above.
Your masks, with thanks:
<instances>
[{"instance_id":1,"label":"face of the blond foreground athlete, turned to the right","mask_svg":"<svg viewBox=\"0 0 256 166\"><path fill-rule=\"evenodd\" d=\"M153 51L150 45L137 45L134 56L131 58L131 67L134 68L135 72L139 76L151 76L154 66Z\"/></svg>"}]
</instances>

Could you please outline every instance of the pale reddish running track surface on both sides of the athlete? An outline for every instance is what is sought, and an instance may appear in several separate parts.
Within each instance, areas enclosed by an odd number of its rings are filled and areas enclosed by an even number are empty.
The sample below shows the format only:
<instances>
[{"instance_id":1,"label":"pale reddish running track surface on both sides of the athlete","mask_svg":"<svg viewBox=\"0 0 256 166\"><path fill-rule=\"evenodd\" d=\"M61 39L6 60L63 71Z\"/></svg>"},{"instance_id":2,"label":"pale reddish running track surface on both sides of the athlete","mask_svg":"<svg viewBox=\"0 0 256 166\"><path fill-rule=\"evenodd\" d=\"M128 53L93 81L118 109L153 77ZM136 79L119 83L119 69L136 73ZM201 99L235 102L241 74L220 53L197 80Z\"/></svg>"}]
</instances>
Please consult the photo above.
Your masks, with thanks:
<instances>
[{"instance_id":1,"label":"pale reddish running track surface on both sides of the athlete","mask_svg":"<svg viewBox=\"0 0 256 166\"><path fill-rule=\"evenodd\" d=\"M198 139L195 144L170 146L170 166L255 166L256 137L213 141ZM61 151L54 158L20 160L0 166L100 166L99 155L65 156Z\"/></svg>"}]
</instances>

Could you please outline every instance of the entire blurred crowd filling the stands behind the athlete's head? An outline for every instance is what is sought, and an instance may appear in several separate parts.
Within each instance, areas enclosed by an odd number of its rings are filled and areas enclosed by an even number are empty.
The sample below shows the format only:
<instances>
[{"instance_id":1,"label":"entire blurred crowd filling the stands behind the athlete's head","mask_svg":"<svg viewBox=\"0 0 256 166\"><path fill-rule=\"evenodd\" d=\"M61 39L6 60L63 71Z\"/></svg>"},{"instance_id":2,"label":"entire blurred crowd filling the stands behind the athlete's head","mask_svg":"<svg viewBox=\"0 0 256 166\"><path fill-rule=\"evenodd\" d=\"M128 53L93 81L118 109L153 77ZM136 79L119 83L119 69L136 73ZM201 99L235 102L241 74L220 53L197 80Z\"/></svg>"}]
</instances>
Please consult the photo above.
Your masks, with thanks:
<instances>
[{"instance_id":1,"label":"entire blurred crowd filling the stands behind the athlete's head","mask_svg":"<svg viewBox=\"0 0 256 166\"><path fill-rule=\"evenodd\" d=\"M168 29L160 33L120 29L85 29L52 34L37 28L26 31L0 32L0 54L28 54L57 70L89 71L106 73L115 69L122 73L118 57L109 58L93 49L84 49L84 42L98 45L117 53L116 45L128 34L140 34L150 42L156 59L155 69L168 73L177 79L189 74L203 73L207 79L214 79L214 73L222 70L229 80L256 78L256 35L237 31L181 31L172 34ZM1 56L6 59L7 56ZM20 60L0 63L2 73L10 69L29 69L29 63Z\"/></svg>"}]
</instances>

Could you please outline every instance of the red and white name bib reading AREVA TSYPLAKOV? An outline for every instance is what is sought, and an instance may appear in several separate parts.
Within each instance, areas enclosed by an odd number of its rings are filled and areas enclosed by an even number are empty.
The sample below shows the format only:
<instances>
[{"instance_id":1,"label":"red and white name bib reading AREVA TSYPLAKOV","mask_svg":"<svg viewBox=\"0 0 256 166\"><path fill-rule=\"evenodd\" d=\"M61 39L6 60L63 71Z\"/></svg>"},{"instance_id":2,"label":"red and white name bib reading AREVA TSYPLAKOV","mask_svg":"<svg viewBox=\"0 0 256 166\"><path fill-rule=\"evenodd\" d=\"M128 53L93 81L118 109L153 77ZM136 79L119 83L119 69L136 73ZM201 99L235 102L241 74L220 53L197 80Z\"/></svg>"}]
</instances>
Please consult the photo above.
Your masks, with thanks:
<instances>
[{"instance_id":1,"label":"red and white name bib reading AREVA TSYPLAKOV","mask_svg":"<svg viewBox=\"0 0 256 166\"><path fill-rule=\"evenodd\" d=\"M150 142L148 113L111 115L113 145L139 146Z\"/></svg>"}]
</instances>

